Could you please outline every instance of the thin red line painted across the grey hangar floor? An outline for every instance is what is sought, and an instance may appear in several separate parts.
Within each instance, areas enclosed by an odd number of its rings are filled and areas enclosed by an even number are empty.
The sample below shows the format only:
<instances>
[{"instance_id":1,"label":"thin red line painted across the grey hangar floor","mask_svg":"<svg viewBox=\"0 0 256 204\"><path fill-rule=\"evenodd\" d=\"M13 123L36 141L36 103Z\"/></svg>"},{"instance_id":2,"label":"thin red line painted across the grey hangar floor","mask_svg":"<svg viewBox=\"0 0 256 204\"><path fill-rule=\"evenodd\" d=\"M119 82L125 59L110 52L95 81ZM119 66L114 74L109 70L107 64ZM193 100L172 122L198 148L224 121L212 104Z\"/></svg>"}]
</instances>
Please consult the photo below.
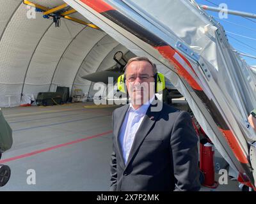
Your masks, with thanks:
<instances>
[{"instance_id":1,"label":"thin red line painted across the grey hangar floor","mask_svg":"<svg viewBox=\"0 0 256 204\"><path fill-rule=\"evenodd\" d=\"M15 156L15 157L11 157L9 159L2 159L0 160L0 163L3 164L3 163L7 163L7 162L10 162L10 161L14 161L14 160L17 160L17 159L22 159L24 157L30 157L30 156L33 156L35 154L40 154L42 152L47 152L47 151L50 151L50 150L54 150L54 149L58 149L60 147L65 147L65 146L68 146L68 145L72 145L74 143L79 143L79 142L83 142L85 140L90 140L92 138L97 138L99 136L104 136L104 135L108 135L109 133L112 133L112 131L107 131L107 132L104 132L104 133L100 133L100 134L97 134L97 135L93 135L93 136L88 136L86 138L81 138L79 140L74 140L72 142L67 142L67 143L63 143L63 144L60 144L60 145L55 145L53 147L48 147L46 149L41 149L41 150L36 150L34 152L30 152L30 153L27 153L27 154L22 154L20 156Z\"/></svg>"}]
</instances>

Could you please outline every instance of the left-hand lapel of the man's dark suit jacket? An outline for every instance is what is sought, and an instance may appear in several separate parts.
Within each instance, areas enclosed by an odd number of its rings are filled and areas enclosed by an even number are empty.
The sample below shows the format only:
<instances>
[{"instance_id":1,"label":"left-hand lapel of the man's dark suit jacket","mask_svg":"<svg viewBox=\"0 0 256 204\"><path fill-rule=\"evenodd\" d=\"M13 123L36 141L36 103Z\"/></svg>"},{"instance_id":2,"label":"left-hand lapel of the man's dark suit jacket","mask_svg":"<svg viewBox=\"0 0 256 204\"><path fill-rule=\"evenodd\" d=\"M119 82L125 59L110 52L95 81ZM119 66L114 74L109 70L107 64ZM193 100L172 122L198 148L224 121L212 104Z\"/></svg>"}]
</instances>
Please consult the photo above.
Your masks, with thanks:
<instances>
[{"instance_id":1,"label":"left-hand lapel of the man's dark suit jacket","mask_svg":"<svg viewBox=\"0 0 256 204\"><path fill-rule=\"evenodd\" d=\"M118 149L118 154L120 155L120 157L122 159L123 167L125 167L125 163L124 163L124 157L122 154L122 148L121 148L120 142L119 142L119 135L120 135L120 129L124 122L125 115L126 115L128 108L129 108L129 105L125 105L124 110L122 110L122 112L120 111L119 113L116 114L116 115L119 115L120 117L115 118L115 120L116 120L116 128L114 130L115 131L115 140L116 140L116 145L117 145L117 149Z\"/></svg>"}]
</instances>

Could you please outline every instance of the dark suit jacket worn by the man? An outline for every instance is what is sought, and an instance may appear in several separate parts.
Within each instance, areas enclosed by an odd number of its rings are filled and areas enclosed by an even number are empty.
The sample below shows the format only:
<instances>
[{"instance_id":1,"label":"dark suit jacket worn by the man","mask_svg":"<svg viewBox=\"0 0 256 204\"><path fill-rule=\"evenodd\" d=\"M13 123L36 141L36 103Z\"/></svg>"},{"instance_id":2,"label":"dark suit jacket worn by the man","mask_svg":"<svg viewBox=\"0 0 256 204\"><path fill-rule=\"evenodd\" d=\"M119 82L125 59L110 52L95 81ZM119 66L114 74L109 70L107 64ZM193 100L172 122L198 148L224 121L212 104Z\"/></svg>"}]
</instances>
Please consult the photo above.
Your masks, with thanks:
<instances>
[{"instance_id":1,"label":"dark suit jacket worn by the man","mask_svg":"<svg viewBox=\"0 0 256 204\"><path fill-rule=\"evenodd\" d=\"M113 112L110 191L198 191L198 138L189 113L166 103L161 111L151 112L152 104L126 165L118 136L129 105Z\"/></svg>"}]
</instances>

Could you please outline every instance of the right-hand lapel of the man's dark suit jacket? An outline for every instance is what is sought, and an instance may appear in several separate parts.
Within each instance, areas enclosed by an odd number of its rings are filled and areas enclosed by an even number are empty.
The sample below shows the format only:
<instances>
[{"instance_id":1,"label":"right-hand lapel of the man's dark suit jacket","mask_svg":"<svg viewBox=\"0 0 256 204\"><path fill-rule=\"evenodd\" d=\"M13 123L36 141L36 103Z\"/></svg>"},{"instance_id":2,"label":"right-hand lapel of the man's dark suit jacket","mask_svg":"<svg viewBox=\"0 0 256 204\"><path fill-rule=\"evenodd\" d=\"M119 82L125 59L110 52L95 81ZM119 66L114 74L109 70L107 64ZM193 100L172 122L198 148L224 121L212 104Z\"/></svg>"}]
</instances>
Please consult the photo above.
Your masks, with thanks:
<instances>
[{"instance_id":1,"label":"right-hand lapel of the man's dark suit jacket","mask_svg":"<svg viewBox=\"0 0 256 204\"><path fill-rule=\"evenodd\" d=\"M141 145L141 142L143 142L144 138L148 135L150 129L158 119L161 111L159 112L151 112L150 109L154 106L156 106L158 103L162 103L161 101L155 99L152 104L148 107L147 113L145 114L144 119L141 122L140 128L138 129L136 135L134 136L134 141L132 143L131 151L126 163L125 168L129 165L132 157L138 150L138 148Z\"/></svg>"}]
</instances>

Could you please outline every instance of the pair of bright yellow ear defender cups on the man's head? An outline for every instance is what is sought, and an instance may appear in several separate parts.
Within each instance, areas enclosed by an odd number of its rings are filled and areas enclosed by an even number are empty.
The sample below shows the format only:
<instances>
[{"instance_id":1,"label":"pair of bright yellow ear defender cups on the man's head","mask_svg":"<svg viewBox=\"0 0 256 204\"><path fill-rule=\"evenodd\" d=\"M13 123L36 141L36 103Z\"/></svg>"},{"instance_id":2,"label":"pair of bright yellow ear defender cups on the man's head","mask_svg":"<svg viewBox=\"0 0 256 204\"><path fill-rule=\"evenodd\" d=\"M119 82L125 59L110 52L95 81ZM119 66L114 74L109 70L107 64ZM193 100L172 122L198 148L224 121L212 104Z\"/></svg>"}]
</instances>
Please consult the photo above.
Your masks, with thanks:
<instances>
[{"instance_id":1,"label":"pair of bright yellow ear defender cups on the man's head","mask_svg":"<svg viewBox=\"0 0 256 204\"><path fill-rule=\"evenodd\" d=\"M165 80L164 75L162 73L157 72L154 75L155 80L155 93L163 91L165 88ZM117 89L121 92L126 93L125 91L125 75L120 75L117 79Z\"/></svg>"}]
</instances>

